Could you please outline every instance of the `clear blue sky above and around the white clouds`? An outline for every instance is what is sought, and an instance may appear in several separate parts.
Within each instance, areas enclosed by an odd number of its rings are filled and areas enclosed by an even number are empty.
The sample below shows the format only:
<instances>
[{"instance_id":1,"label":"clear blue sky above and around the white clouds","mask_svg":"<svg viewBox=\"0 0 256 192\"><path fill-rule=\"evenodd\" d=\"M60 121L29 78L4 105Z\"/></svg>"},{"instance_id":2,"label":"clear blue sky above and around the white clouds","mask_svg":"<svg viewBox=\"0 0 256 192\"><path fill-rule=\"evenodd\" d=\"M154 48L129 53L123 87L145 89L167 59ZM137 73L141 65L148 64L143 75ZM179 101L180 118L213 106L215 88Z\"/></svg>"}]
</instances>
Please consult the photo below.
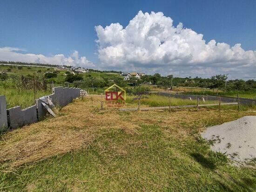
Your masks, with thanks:
<instances>
[{"instance_id":1,"label":"clear blue sky above and around the white clouds","mask_svg":"<svg viewBox=\"0 0 256 192\"><path fill-rule=\"evenodd\" d=\"M256 50L255 0L2 0L0 7L0 47L45 56L68 56L76 50L96 68L102 60L94 26L120 23L125 28L140 10L162 12L173 26L182 22L202 33L206 43L214 39Z\"/></svg>"}]
</instances>

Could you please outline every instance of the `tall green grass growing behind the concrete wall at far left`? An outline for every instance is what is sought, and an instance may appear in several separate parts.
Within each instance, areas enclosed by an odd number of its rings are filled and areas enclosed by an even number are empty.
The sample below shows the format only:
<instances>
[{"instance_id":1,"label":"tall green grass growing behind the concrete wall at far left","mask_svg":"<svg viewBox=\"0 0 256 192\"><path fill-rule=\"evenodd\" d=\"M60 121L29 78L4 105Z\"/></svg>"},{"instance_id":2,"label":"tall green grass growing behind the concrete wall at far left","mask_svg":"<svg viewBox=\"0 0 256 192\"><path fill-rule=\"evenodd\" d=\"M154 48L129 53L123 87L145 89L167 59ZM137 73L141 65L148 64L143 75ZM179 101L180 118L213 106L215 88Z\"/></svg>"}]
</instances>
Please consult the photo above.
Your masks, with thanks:
<instances>
[{"instance_id":1,"label":"tall green grass growing behind the concrete wall at far left","mask_svg":"<svg viewBox=\"0 0 256 192\"><path fill-rule=\"evenodd\" d=\"M36 98L48 95L50 93L50 90L37 91ZM21 108L25 108L34 105L34 90L19 91L15 88L0 87L0 95L6 96L7 108L11 108L13 106L21 106Z\"/></svg>"}]
</instances>

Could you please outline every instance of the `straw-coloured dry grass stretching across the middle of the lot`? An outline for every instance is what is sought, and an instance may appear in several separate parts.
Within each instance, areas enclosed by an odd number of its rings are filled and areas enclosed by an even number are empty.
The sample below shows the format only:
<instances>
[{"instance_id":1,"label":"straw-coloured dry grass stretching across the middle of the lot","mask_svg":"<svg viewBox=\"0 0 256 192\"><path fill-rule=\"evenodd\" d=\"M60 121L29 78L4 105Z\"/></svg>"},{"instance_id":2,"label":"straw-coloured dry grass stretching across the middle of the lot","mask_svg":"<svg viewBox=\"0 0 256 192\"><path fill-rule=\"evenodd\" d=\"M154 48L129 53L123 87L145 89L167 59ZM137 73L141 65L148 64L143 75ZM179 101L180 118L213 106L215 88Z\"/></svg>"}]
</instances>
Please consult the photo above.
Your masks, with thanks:
<instances>
[{"instance_id":1,"label":"straw-coloured dry grass stretching across the middle of the lot","mask_svg":"<svg viewBox=\"0 0 256 192\"><path fill-rule=\"evenodd\" d=\"M135 104L127 106L135 107ZM199 113L195 109L187 109L176 110L171 114L162 111L126 113L109 108L100 110L100 96L91 95L63 107L56 118L47 118L3 134L0 141L0 162L5 162L5 165L12 168L86 147L99 136L97 134L100 129L107 128L135 134L136 128L141 124L157 124L162 128L168 127L165 131L173 133L177 138L186 137L192 130L188 130L185 124L191 125L198 119L195 126L203 129L209 124L206 122L214 119L219 119L219 123L234 120L234 113L235 110L230 110L229 113L220 115L216 110L203 108ZM241 112L237 118L251 113ZM120 147L118 150L125 151Z\"/></svg>"}]
</instances>

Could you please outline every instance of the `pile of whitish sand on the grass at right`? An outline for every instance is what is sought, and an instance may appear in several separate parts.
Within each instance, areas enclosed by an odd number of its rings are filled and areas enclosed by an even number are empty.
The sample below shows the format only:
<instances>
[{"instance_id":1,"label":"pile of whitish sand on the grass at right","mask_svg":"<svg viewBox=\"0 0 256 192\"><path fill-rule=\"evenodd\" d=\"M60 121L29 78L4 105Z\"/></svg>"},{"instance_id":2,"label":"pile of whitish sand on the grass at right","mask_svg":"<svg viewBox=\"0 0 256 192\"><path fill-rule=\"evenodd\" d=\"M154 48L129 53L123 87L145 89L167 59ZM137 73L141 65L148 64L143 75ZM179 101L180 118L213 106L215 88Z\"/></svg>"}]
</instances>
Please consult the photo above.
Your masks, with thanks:
<instances>
[{"instance_id":1,"label":"pile of whitish sand on the grass at right","mask_svg":"<svg viewBox=\"0 0 256 192\"><path fill-rule=\"evenodd\" d=\"M256 158L256 116L211 126L201 135L213 143L212 150L225 153L230 159L244 162Z\"/></svg>"}]
</instances>

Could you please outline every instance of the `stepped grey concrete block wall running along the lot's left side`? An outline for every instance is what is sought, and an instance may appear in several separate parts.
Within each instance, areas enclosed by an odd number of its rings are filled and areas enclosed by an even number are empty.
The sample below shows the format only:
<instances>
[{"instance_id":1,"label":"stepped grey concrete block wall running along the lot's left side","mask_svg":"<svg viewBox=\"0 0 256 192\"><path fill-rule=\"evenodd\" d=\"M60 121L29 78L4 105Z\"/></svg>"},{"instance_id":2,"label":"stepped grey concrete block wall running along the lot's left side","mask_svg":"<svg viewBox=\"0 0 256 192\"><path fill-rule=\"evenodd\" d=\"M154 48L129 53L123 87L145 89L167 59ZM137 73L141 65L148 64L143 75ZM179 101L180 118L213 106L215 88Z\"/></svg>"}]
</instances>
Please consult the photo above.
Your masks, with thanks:
<instances>
[{"instance_id":1,"label":"stepped grey concrete block wall running along the lot's left side","mask_svg":"<svg viewBox=\"0 0 256 192\"><path fill-rule=\"evenodd\" d=\"M80 97L79 88L69 88L62 86L54 87L52 94L47 95L54 105L66 106L73 99ZM10 109L6 109L5 96L0 96L0 130L6 130L8 127L17 128L27 124L37 122L43 118L47 110L42 105L40 99L35 100L36 105L29 106L25 109L21 109L20 106L14 106Z\"/></svg>"}]
</instances>

